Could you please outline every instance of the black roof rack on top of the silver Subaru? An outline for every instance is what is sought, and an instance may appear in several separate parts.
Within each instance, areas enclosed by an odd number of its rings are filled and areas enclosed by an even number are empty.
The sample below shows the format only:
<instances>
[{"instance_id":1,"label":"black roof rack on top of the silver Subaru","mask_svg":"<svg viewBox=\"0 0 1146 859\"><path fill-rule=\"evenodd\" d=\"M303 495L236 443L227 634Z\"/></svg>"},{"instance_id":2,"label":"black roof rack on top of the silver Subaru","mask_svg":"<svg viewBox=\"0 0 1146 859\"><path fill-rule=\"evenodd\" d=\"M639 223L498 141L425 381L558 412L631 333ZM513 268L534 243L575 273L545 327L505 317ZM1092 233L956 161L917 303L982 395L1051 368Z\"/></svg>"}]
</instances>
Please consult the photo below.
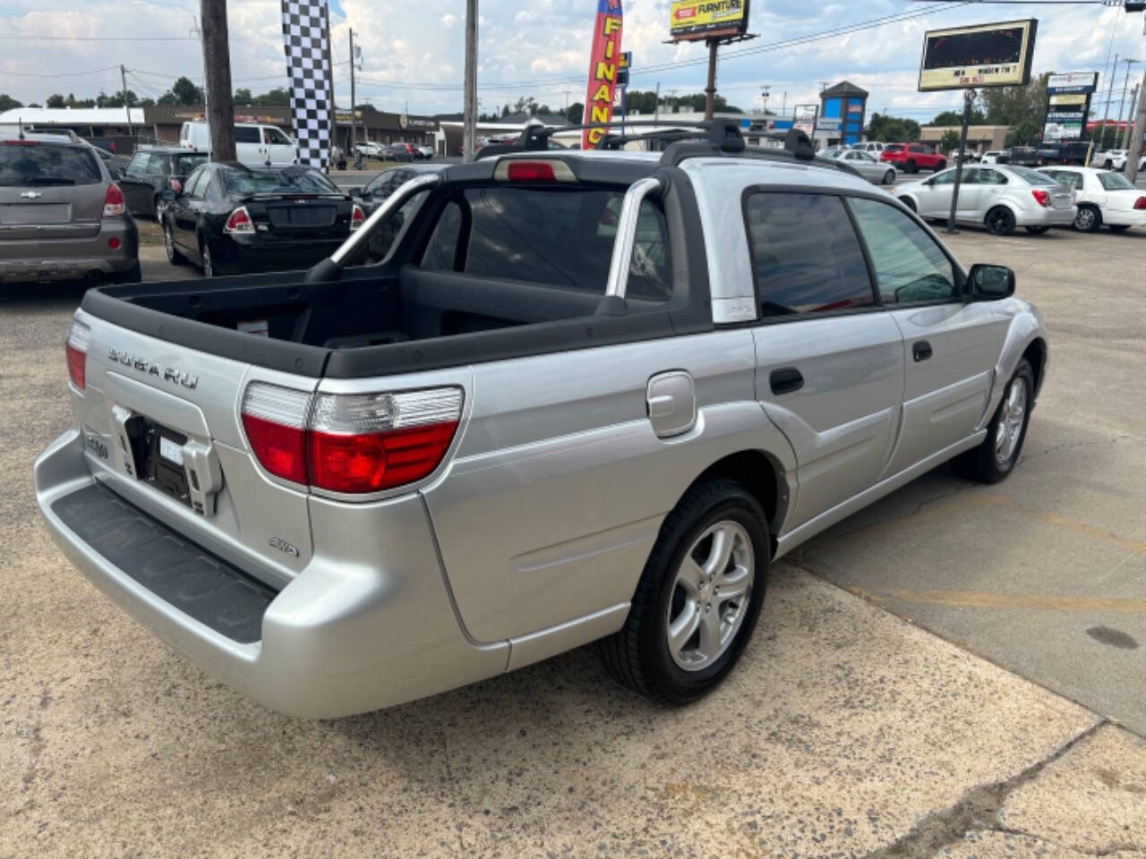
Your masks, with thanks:
<instances>
[{"instance_id":1,"label":"black roof rack on top of the silver Subaru","mask_svg":"<svg viewBox=\"0 0 1146 859\"><path fill-rule=\"evenodd\" d=\"M670 126L664 128L662 126ZM482 147L478 158L486 158L495 155L511 155L513 152L537 152L549 149L549 139L558 132L583 131L586 128L642 128L653 127L650 134L630 135L623 131L620 134L606 132L598 141L598 150L621 149L626 143L638 140L664 140L670 141L666 147L660 163L677 166L688 158L712 157L714 155L736 155L747 158L759 158L763 160L802 161L815 164L818 167L830 167L841 173L859 175L851 165L838 161L834 158L817 158L816 150L804 134L799 128L791 128L787 132L761 132L753 136L778 140L784 143L779 148L747 147L744 135L736 120L723 117L702 123L675 123L672 120L634 120L609 123L594 123L591 125L565 125L543 126L528 125L521 131L521 135L513 143L492 143Z\"/></svg>"}]
</instances>

